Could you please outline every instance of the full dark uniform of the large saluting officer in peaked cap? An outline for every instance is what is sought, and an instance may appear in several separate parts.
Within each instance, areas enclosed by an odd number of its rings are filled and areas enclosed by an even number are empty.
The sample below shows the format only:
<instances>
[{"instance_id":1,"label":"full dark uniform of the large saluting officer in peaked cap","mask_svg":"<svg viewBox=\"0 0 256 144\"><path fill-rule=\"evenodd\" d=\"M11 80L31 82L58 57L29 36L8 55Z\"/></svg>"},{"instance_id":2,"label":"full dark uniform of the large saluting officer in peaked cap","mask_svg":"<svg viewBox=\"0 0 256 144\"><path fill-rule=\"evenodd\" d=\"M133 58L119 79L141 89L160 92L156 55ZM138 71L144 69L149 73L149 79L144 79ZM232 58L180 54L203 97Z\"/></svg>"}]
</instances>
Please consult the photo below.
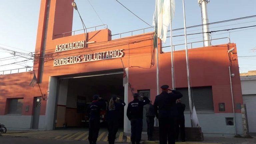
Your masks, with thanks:
<instances>
[{"instance_id":1,"label":"full dark uniform of the large saluting officer in peaked cap","mask_svg":"<svg viewBox=\"0 0 256 144\"><path fill-rule=\"evenodd\" d=\"M156 96L154 109L159 121L159 141L160 144L175 144L175 123L178 111L176 100L180 99L182 94L173 90L172 93L163 91Z\"/></svg>"}]
</instances>

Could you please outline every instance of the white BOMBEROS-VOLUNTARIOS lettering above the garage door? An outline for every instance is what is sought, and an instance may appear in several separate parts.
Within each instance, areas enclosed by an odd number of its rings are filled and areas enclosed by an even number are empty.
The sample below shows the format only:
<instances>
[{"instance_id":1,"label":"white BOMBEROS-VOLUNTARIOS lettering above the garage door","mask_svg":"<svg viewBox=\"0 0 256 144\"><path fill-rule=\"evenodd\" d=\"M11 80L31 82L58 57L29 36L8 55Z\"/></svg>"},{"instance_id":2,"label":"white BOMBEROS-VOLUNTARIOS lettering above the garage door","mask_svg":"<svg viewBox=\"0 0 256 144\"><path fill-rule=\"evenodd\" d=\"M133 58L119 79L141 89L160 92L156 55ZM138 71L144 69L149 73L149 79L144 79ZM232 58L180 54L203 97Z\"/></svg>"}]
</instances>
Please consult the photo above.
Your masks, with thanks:
<instances>
[{"instance_id":1,"label":"white BOMBEROS-VOLUNTARIOS lettering above the garage door","mask_svg":"<svg viewBox=\"0 0 256 144\"><path fill-rule=\"evenodd\" d=\"M123 57L123 55L124 55L123 49L120 49L120 50L105 51L105 52L99 52L99 53L93 53L93 54L71 56L71 57L54 59L53 66L114 59L114 58Z\"/></svg>"}]
</instances>

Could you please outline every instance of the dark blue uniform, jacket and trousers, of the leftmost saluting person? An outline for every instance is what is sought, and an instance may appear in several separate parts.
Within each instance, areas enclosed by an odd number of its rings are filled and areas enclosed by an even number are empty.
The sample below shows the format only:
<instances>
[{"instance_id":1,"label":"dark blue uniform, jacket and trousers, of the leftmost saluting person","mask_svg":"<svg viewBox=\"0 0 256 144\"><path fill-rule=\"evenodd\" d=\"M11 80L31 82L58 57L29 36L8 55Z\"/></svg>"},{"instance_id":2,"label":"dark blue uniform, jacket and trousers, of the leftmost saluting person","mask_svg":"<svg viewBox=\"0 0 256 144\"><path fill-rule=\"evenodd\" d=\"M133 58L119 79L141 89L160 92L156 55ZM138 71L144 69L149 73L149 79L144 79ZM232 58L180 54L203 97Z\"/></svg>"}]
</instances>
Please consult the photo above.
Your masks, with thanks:
<instances>
[{"instance_id":1,"label":"dark blue uniform, jacket and trousers, of the leftmost saluting person","mask_svg":"<svg viewBox=\"0 0 256 144\"><path fill-rule=\"evenodd\" d=\"M89 136L90 144L96 144L100 130L100 109L106 109L105 100L99 99L93 101L87 108L89 119Z\"/></svg>"}]
</instances>

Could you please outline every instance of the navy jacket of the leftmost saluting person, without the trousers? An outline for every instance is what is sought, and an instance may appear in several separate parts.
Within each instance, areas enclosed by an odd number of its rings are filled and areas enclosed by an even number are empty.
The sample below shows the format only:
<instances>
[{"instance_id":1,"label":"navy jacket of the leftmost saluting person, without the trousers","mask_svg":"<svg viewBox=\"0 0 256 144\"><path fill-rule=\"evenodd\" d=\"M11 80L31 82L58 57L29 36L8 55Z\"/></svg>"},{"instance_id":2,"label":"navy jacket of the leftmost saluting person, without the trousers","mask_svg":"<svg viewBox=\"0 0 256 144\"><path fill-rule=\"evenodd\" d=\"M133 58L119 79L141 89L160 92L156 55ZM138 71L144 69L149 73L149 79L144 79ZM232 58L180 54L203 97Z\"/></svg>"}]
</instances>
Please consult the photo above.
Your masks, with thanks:
<instances>
[{"instance_id":1,"label":"navy jacket of the leftmost saluting person, without the trousers","mask_svg":"<svg viewBox=\"0 0 256 144\"><path fill-rule=\"evenodd\" d=\"M92 101L86 111L90 120L100 120L100 109L106 109L105 100L99 99L98 101Z\"/></svg>"}]
</instances>

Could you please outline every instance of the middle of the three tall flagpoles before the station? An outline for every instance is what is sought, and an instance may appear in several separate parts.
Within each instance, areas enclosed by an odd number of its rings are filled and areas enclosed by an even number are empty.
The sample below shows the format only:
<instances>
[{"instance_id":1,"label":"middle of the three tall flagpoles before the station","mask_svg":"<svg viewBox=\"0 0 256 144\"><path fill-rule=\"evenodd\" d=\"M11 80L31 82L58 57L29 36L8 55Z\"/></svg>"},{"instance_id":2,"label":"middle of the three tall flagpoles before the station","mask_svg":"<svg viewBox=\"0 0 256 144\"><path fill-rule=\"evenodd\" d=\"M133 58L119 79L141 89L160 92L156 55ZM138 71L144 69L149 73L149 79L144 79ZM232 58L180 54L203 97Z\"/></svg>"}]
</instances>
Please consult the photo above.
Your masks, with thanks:
<instances>
[{"instance_id":1,"label":"middle of the three tall flagpoles before the station","mask_svg":"<svg viewBox=\"0 0 256 144\"><path fill-rule=\"evenodd\" d=\"M172 47L172 0L170 0L170 39L171 39L171 63L172 63L172 89L175 90L175 79L174 79L174 61L173 61L173 47Z\"/></svg>"}]
</instances>

